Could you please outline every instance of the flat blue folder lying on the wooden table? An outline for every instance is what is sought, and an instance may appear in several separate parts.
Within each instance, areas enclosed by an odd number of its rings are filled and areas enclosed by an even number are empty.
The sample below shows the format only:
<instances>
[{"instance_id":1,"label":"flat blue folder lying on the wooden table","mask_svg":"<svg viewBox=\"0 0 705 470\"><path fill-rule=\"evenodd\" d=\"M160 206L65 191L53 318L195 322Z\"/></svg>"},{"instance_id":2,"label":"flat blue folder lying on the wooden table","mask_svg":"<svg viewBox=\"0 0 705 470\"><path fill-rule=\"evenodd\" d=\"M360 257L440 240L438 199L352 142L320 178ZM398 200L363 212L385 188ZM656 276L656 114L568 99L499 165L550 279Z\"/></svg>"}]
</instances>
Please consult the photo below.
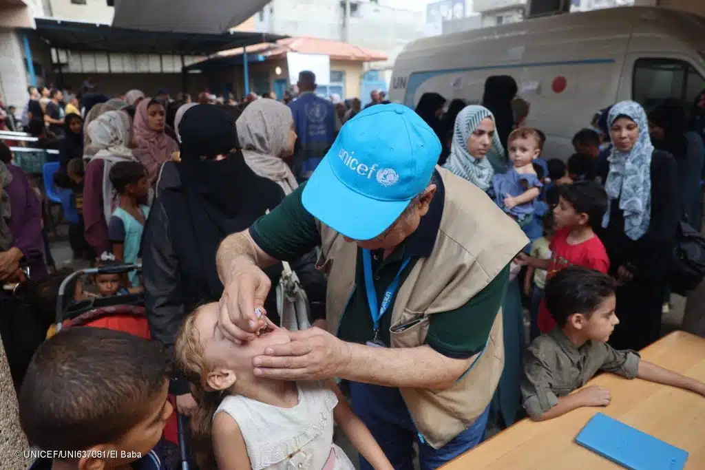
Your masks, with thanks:
<instances>
[{"instance_id":1,"label":"flat blue folder lying on the wooden table","mask_svg":"<svg viewBox=\"0 0 705 470\"><path fill-rule=\"evenodd\" d=\"M688 452L598 413L575 442L630 470L681 470Z\"/></svg>"}]
</instances>

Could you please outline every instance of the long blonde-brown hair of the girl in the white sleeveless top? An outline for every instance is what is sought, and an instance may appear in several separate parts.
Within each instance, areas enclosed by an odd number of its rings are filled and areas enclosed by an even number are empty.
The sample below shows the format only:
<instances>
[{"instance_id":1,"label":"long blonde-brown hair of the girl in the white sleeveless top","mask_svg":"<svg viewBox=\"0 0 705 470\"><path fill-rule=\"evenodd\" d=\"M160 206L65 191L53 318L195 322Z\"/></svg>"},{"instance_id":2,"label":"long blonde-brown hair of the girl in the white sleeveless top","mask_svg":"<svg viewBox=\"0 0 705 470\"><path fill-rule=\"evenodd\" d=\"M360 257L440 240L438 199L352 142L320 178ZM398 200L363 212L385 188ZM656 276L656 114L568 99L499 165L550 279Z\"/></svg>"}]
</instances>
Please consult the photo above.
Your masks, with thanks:
<instances>
[{"instance_id":1,"label":"long blonde-brown hair of the girl in the white sleeveless top","mask_svg":"<svg viewBox=\"0 0 705 470\"><path fill-rule=\"evenodd\" d=\"M190 418L191 447L196 464L200 469L216 469L213 451L213 416L223 400L224 393L212 390L207 384L208 366L204 359L204 348L195 327L199 312L196 309L186 317L176 337L174 353L176 366L190 383L191 393L198 403L198 409Z\"/></svg>"}]
</instances>

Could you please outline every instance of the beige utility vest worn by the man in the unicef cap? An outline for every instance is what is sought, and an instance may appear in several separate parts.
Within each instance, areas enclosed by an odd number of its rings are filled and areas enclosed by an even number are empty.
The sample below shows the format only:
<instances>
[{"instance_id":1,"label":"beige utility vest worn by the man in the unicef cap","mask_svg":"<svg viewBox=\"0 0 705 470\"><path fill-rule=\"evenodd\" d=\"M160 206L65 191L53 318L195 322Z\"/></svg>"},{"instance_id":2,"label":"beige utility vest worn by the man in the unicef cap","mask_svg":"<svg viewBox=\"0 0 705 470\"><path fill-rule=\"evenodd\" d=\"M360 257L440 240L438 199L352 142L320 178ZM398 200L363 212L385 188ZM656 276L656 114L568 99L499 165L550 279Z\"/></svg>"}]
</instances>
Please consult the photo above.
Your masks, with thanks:
<instances>
[{"instance_id":1,"label":"beige utility vest worn by the man in the unicef cap","mask_svg":"<svg viewBox=\"0 0 705 470\"><path fill-rule=\"evenodd\" d=\"M431 256L419 259L399 288L391 318L391 347L395 348L424 345L430 315L465 305L529 242L519 225L484 192L450 171L436 169L446 192L441 226ZM319 266L329 274L326 318L335 331L355 289L357 245L318 224ZM419 318L422 321L415 326L394 333L396 326ZM468 359L470 364L472 369L446 390L400 389L419 433L436 449L465 431L494 395L504 366L501 309L484 351Z\"/></svg>"}]
</instances>

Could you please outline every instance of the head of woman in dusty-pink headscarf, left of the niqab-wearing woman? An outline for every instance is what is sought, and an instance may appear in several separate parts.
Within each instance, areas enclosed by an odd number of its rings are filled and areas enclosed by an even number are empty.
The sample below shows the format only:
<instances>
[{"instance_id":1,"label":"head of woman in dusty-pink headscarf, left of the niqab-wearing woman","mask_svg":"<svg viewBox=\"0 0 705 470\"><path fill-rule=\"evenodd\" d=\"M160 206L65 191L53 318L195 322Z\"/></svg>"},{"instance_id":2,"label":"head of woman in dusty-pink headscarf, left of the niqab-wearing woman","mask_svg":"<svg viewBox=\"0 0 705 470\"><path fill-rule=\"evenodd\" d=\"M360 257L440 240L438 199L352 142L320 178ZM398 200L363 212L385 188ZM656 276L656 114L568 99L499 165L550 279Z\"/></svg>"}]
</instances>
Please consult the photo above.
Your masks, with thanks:
<instances>
[{"instance_id":1,"label":"head of woman in dusty-pink headscarf, left of the niqab-wearing woman","mask_svg":"<svg viewBox=\"0 0 705 470\"><path fill-rule=\"evenodd\" d=\"M178 151L175 140L164 133L166 110L156 99L143 99L137 105L133 130L137 149L135 157L147 168L149 182L154 184L159 175L159 166L171 160Z\"/></svg>"}]
</instances>

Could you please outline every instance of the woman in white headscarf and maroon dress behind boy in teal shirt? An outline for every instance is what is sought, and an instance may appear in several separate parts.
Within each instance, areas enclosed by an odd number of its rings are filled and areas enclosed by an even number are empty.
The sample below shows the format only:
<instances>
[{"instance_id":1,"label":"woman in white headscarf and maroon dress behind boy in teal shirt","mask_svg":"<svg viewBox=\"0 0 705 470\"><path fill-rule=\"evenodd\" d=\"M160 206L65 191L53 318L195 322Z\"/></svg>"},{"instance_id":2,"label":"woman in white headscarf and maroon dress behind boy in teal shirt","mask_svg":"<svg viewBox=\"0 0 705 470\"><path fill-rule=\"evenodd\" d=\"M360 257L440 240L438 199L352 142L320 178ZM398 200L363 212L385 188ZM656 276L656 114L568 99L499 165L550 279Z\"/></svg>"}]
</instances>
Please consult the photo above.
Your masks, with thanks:
<instances>
[{"instance_id":1,"label":"woman in white headscarf and maroon dress behind boy in teal shirt","mask_svg":"<svg viewBox=\"0 0 705 470\"><path fill-rule=\"evenodd\" d=\"M130 126L128 113L108 111L87 128L88 142L97 152L85 168L83 220L85 239L95 254L112 249L107 221L114 209L114 188L108 175L114 163L135 160L133 151L128 148Z\"/></svg>"}]
</instances>

